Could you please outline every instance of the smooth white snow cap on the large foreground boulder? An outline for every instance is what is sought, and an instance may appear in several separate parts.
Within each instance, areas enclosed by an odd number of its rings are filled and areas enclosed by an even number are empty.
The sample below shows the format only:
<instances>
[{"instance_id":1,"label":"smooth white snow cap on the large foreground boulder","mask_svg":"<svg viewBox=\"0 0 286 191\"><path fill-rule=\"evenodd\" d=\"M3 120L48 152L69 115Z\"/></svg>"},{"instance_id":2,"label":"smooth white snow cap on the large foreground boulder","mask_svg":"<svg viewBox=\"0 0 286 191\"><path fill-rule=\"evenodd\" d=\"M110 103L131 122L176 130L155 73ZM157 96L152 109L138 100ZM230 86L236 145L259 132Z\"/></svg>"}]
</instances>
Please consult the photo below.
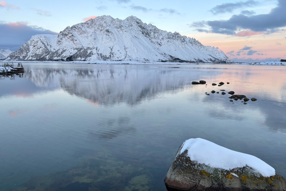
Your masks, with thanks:
<instances>
[{"instance_id":1,"label":"smooth white snow cap on the large foreground boulder","mask_svg":"<svg viewBox=\"0 0 286 191\"><path fill-rule=\"evenodd\" d=\"M275 169L261 159L231 149L227 149L205 139L196 138L186 140L180 150L180 154L187 150L187 155L192 161L205 164L212 168L231 170L249 166L262 176L275 175Z\"/></svg>"}]
</instances>

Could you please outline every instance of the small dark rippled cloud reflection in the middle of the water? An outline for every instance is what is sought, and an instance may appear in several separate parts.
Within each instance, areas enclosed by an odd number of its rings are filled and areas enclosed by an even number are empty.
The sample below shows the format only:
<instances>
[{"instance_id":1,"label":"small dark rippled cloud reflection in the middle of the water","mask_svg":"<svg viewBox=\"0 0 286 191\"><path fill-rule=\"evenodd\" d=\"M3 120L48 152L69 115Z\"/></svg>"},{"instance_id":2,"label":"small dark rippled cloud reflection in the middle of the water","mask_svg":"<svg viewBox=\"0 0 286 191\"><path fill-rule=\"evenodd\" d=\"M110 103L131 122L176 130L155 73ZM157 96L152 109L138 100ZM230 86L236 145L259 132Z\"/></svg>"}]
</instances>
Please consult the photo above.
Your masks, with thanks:
<instances>
[{"instance_id":1,"label":"small dark rippled cloud reflection in the middle of the water","mask_svg":"<svg viewBox=\"0 0 286 191\"><path fill-rule=\"evenodd\" d=\"M113 139L120 134L134 133L136 128L130 123L129 117L119 117L117 119L100 119L96 124L98 130L90 130L89 137L100 137L102 139Z\"/></svg>"}]
</instances>

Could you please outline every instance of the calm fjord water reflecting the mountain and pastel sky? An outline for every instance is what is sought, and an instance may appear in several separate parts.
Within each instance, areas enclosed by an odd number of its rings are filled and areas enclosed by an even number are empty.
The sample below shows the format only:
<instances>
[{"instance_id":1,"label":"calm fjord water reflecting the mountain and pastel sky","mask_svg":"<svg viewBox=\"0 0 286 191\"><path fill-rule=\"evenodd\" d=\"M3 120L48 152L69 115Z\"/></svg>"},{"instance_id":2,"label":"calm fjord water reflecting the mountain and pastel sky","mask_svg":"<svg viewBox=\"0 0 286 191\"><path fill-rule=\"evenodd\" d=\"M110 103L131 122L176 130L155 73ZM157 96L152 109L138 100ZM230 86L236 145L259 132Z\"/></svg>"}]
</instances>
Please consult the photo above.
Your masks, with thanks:
<instances>
[{"instance_id":1,"label":"calm fjord water reflecting the mountain and pastel sky","mask_svg":"<svg viewBox=\"0 0 286 191\"><path fill-rule=\"evenodd\" d=\"M286 177L284 66L23 66L0 80L0 190L166 190L178 147L196 137ZM221 89L258 100L231 103Z\"/></svg>"}]
</instances>

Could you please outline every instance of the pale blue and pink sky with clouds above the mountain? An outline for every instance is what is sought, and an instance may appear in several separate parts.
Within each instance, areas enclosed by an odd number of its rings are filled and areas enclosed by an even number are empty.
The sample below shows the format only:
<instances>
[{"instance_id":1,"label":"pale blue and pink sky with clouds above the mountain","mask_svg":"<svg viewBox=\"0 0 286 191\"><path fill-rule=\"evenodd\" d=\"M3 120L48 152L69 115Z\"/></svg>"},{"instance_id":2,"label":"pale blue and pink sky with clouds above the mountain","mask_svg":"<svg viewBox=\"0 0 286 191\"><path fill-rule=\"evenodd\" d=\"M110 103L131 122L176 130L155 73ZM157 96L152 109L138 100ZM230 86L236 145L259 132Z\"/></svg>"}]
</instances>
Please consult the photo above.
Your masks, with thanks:
<instances>
[{"instance_id":1,"label":"pale blue and pink sky with clouds above the mountain","mask_svg":"<svg viewBox=\"0 0 286 191\"><path fill-rule=\"evenodd\" d=\"M0 0L0 49L57 34L90 18L133 15L159 29L219 47L233 61L286 59L286 0Z\"/></svg>"}]
</instances>

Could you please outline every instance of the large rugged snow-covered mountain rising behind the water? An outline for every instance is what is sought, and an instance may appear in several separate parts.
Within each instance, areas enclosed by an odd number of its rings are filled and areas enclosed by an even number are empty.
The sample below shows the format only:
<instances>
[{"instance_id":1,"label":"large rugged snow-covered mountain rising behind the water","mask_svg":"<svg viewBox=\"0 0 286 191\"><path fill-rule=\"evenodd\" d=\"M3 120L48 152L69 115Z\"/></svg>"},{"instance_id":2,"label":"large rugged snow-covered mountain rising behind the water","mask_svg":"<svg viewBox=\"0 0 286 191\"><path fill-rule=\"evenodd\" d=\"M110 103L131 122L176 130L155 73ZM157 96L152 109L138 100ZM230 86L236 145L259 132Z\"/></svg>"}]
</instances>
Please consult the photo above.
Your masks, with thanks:
<instances>
[{"instance_id":1,"label":"large rugged snow-covered mountain rising behind the water","mask_svg":"<svg viewBox=\"0 0 286 191\"><path fill-rule=\"evenodd\" d=\"M8 60L150 60L231 62L219 48L162 31L134 16L100 16L66 27L59 35L35 35Z\"/></svg>"}]
</instances>

